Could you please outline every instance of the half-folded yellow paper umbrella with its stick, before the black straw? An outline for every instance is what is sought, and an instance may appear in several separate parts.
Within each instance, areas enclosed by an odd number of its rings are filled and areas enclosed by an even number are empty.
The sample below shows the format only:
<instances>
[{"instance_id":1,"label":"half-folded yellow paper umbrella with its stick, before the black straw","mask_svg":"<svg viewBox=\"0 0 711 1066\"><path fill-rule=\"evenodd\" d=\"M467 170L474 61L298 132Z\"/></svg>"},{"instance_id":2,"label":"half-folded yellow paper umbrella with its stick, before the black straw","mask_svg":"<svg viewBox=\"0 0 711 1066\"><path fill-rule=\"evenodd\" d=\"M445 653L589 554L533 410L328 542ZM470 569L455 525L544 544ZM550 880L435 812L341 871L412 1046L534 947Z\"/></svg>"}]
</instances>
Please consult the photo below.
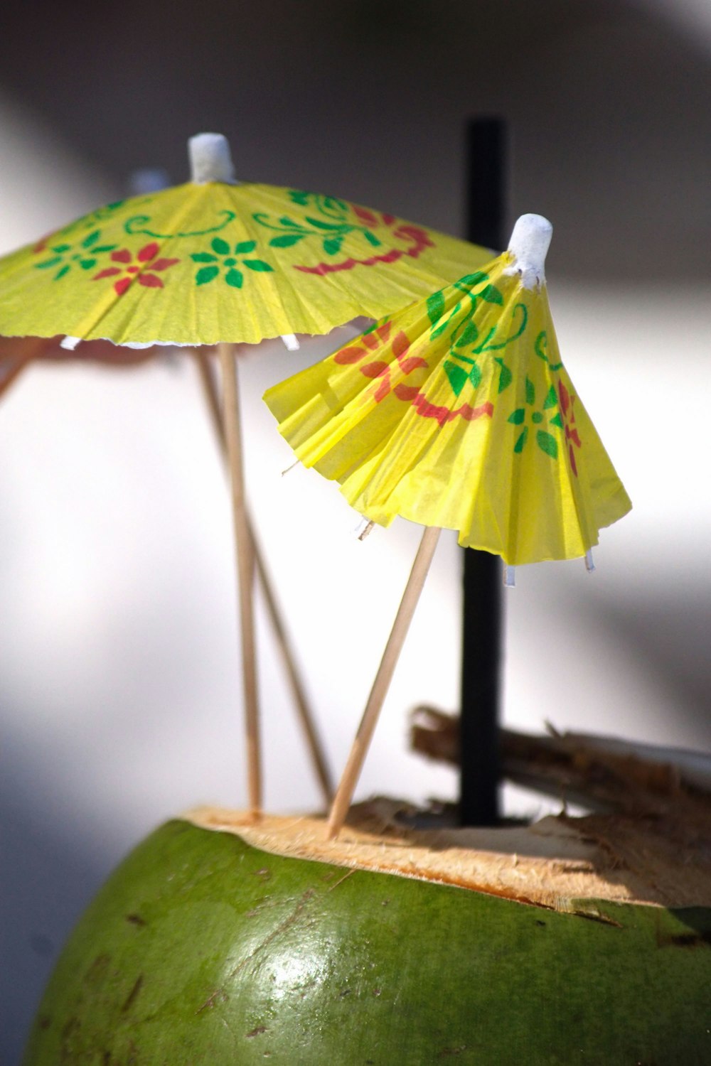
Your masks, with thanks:
<instances>
[{"instance_id":1,"label":"half-folded yellow paper umbrella with its stick, before the black straw","mask_svg":"<svg viewBox=\"0 0 711 1066\"><path fill-rule=\"evenodd\" d=\"M561 361L546 294L550 223L264 400L306 466L387 526L426 526L332 810L337 833L442 527L510 566L587 555L631 504Z\"/></svg>"}]
</instances>

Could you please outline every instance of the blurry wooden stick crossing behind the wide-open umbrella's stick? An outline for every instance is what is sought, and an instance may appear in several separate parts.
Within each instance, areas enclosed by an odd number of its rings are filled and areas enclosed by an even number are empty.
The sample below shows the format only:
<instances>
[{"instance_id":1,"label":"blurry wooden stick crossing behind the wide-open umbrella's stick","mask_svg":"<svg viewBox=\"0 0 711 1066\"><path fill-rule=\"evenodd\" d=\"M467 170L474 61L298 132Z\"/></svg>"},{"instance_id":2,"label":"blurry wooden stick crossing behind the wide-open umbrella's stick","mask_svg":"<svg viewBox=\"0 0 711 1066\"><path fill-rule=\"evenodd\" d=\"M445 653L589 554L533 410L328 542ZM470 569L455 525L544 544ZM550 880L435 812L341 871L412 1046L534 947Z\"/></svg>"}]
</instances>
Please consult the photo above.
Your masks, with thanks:
<instances>
[{"instance_id":1,"label":"blurry wooden stick crossing behind the wide-open umbrella's stick","mask_svg":"<svg viewBox=\"0 0 711 1066\"><path fill-rule=\"evenodd\" d=\"M224 453L225 433L222 424L222 410L220 408L220 392L215 381L215 374L212 369L212 357L206 352L201 352L199 349L195 350L195 355L197 357L197 367L200 375L200 382L203 384L203 391L210 411L210 418L212 420L220 447ZM274 635L276 636L277 647L281 653L284 666L287 672L287 678L291 688L291 694L293 696L294 704L296 705L296 714L304 730L306 746L308 747L311 756L313 770L317 780L321 787L324 802L326 806L329 806L334 797L334 788L324 750L321 745L321 740L319 739L313 714L306 697L306 691L298 675L296 660L294 659L294 655L289 643L289 636L287 634L284 618L281 617L281 611L276 600L276 594L272 586L272 580L269 576L264 556L259 546L254 523L252 522L248 511L246 513L246 519L249 536L252 537L252 550L257 568L257 577L261 583L266 611L272 623Z\"/></svg>"}]
</instances>

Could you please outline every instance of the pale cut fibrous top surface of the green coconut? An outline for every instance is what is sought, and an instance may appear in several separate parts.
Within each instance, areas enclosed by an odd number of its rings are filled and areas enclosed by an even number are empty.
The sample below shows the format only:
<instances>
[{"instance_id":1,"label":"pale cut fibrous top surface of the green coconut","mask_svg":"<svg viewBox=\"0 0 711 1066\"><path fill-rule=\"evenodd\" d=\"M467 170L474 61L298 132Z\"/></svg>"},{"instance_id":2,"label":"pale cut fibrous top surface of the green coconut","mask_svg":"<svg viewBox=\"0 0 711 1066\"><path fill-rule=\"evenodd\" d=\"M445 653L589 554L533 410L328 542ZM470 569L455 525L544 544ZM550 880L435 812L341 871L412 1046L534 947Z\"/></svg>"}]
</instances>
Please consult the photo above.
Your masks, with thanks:
<instances>
[{"instance_id":1,"label":"pale cut fibrous top surface of the green coconut","mask_svg":"<svg viewBox=\"0 0 711 1066\"><path fill-rule=\"evenodd\" d=\"M398 820L407 809L386 798L358 804L336 841L326 840L325 819L318 817L263 815L255 822L246 811L217 807L182 817L272 854L455 885L600 921L600 901L711 904L711 865L704 859L711 849L690 851L678 824L561 815L530 826L414 829ZM699 858L690 861L690 855Z\"/></svg>"}]
</instances>

